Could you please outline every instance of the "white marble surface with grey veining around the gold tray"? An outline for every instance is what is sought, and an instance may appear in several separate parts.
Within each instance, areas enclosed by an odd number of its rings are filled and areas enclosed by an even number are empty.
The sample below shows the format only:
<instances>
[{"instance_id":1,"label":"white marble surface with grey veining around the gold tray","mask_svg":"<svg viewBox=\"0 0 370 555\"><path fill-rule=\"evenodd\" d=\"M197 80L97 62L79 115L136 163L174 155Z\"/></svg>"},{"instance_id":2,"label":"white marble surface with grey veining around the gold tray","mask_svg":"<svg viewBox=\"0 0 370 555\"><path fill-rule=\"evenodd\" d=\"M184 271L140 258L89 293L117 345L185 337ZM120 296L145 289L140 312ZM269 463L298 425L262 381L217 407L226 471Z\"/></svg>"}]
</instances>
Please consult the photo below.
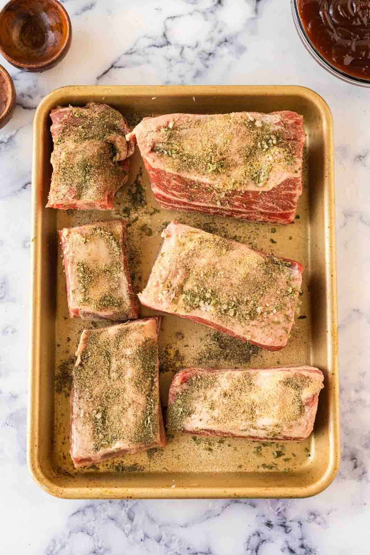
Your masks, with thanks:
<instances>
[{"instance_id":1,"label":"white marble surface with grey veining around the gold tray","mask_svg":"<svg viewBox=\"0 0 370 555\"><path fill-rule=\"evenodd\" d=\"M4 4L0 0L0 6ZM49 555L370 553L369 92L308 55L287 0L65 0L72 47L58 67L14 78L0 131L0 546ZM336 145L342 465L292 501L64 501L26 466L31 125L69 84L299 84L331 107Z\"/></svg>"}]
</instances>

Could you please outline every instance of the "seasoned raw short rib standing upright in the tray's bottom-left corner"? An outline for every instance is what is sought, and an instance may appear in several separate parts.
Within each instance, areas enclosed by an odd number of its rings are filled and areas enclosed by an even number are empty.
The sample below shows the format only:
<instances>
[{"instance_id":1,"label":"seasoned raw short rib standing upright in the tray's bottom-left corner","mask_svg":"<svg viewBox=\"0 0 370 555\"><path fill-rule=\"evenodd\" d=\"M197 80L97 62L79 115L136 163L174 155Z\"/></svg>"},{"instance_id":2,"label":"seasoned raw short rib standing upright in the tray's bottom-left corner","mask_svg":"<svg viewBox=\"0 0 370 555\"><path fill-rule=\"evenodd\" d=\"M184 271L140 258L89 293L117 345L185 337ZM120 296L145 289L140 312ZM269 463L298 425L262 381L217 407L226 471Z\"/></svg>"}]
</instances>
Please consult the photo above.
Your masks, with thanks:
<instances>
[{"instance_id":1,"label":"seasoned raw short rib standing upright in the tray's bottom-left corner","mask_svg":"<svg viewBox=\"0 0 370 555\"><path fill-rule=\"evenodd\" d=\"M76 468L165 446L158 383L160 317L84 330L71 394Z\"/></svg>"}]
</instances>

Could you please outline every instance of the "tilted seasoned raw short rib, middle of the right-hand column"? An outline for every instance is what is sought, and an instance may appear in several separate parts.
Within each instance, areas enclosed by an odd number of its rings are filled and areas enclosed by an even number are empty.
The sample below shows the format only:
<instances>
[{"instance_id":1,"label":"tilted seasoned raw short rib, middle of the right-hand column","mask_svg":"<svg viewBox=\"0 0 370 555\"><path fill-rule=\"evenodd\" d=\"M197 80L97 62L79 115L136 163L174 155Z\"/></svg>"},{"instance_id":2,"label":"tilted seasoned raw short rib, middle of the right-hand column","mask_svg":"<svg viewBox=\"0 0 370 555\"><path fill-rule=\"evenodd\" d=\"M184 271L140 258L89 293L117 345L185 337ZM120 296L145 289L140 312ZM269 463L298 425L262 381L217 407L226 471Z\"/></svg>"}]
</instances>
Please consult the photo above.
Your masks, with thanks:
<instances>
[{"instance_id":1,"label":"tilted seasoned raw short rib, middle of the right-hand column","mask_svg":"<svg viewBox=\"0 0 370 555\"><path fill-rule=\"evenodd\" d=\"M270 350L287 344L303 266L171 222L139 299Z\"/></svg>"}]
</instances>

